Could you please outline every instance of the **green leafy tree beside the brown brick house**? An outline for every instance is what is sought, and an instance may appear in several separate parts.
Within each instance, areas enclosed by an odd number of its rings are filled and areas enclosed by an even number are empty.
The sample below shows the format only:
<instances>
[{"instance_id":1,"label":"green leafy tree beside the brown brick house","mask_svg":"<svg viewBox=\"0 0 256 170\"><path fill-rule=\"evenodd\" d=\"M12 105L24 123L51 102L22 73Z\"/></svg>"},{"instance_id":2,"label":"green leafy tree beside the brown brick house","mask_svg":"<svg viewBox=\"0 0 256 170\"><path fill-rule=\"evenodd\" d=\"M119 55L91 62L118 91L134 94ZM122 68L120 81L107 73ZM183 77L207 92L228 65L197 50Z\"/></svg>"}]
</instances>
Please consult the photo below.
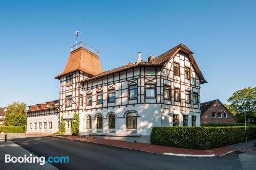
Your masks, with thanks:
<instances>
[{"instance_id":1,"label":"green leafy tree beside the brown brick house","mask_svg":"<svg viewBox=\"0 0 256 170\"><path fill-rule=\"evenodd\" d=\"M237 110L241 122L244 121L244 116L242 116L244 111L246 112L246 117L250 119L250 123L256 118L256 87L238 90L227 101L231 103L230 106L234 110Z\"/></svg>"}]
</instances>

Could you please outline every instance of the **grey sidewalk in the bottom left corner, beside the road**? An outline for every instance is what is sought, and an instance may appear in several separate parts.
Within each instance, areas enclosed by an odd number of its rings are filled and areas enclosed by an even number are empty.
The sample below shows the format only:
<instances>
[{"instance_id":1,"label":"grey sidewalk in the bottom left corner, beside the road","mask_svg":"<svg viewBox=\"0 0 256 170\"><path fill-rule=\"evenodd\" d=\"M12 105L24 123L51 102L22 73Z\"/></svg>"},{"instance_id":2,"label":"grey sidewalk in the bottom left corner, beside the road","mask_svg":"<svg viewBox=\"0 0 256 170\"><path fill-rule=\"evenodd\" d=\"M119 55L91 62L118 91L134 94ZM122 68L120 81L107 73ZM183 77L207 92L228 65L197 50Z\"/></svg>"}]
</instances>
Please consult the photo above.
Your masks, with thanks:
<instances>
[{"instance_id":1,"label":"grey sidewalk in the bottom left corner, beside the road","mask_svg":"<svg viewBox=\"0 0 256 170\"><path fill-rule=\"evenodd\" d=\"M32 153L12 141L5 142L4 139L0 137L0 169L57 169L50 163L44 165L40 165L39 163L5 163L5 154L15 157L24 157L24 155L30 156ZM36 155L32 154L32 156Z\"/></svg>"}]
</instances>

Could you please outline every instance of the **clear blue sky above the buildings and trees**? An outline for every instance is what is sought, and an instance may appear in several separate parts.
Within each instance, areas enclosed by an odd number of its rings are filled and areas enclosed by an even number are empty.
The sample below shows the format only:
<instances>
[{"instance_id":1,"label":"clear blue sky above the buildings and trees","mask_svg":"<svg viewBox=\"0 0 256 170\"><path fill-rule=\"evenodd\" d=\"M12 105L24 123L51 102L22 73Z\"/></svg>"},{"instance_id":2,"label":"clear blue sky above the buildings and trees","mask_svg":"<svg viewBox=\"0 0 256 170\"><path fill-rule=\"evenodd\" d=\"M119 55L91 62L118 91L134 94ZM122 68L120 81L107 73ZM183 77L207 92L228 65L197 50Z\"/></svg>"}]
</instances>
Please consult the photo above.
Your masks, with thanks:
<instances>
[{"instance_id":1,"label":"clear blue sky above the buildings and trees","mask_svg":"<svg viewBox=\"0 0 256 170\"><path fill-rule=\"evenodd\" d=\"M104 70L186 44L208 81L202 102L256 85L255 1L1 1L0 107L59 98L76 30Z\"/></svg>"}]
</instances>

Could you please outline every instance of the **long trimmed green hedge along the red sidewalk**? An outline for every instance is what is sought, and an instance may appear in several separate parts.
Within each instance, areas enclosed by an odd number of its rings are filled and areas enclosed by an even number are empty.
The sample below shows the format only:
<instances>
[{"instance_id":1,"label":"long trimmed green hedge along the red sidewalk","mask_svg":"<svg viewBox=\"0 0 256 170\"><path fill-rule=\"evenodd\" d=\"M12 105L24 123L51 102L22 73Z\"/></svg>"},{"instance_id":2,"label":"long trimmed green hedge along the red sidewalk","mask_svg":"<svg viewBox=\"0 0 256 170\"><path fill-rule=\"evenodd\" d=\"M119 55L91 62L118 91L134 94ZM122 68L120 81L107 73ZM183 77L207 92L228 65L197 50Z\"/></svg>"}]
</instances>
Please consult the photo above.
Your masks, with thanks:
<instances>
[{"instance_id":1,"label":"long trimmed green hedge along the red sidewalk","mask_svg":"<svg viewBox=\"0 0 256 170\"><path fill-rule=\"evenodd\" d=\"M247 127L247 139L256 138L256 127ZM151 143L188 149L210 149L245 141L244 127L154 127Z\"/></svg>"}]
</instances>

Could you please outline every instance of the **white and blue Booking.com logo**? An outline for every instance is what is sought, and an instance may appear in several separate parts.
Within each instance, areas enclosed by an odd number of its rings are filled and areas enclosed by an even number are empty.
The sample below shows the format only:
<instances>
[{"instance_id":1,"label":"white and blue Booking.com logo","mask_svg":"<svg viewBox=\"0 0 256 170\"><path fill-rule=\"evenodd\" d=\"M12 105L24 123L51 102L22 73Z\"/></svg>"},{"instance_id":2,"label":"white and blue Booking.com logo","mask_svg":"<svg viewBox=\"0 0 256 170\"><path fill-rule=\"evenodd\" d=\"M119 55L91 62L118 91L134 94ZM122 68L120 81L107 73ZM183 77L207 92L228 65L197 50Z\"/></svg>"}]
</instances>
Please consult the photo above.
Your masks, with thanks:
<instances>
[{"instance_id":1,"label":"white and blue Booking.com logo","mask_svg":"<svg viewBox=\"0 0 256 170\"><path fill-rule=\"evenodd\" d=\"M44 156L11 156L9 154L5 154L5 163L39 163L39 165L44 165L45 163L69 163L69 156L49 156L46 160Z\"/></svg>"}]
</instances>

